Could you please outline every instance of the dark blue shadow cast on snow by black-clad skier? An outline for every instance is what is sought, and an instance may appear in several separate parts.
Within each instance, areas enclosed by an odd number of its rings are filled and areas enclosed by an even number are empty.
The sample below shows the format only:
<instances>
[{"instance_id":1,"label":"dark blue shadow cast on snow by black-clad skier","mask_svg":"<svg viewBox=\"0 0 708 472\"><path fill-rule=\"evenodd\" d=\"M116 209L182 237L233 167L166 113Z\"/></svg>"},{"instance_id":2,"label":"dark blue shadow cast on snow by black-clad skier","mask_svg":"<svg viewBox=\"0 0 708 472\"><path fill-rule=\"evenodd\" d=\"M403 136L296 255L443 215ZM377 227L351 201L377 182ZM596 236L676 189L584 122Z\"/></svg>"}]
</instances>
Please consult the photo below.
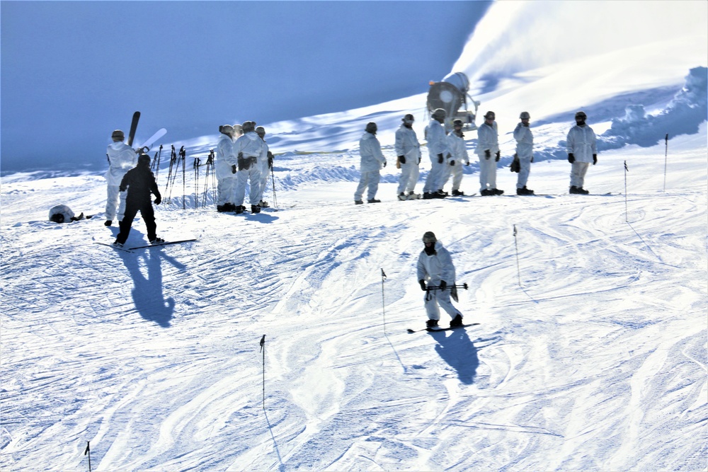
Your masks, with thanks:
<instances>
[{"instance_id":1,"label":"dark blue shadow cast on snow by black-clad skier","mask_svg":"<svg viewBox=\"0 0 708 472\"><path fill-rule=\"evenodd\" d=\"M175 301L170 297L165 299L162 291L161 259L182 270L185 265L166 255L162 248L145 248L142 255L122 255L123 263L133 280L132 299L135 309L147 321L154 321L163 328L170 327L174 313ZM143 260L142 265L140 261ZM147 275L144 271L147 270Z\"/></svg>"}]
</instances>

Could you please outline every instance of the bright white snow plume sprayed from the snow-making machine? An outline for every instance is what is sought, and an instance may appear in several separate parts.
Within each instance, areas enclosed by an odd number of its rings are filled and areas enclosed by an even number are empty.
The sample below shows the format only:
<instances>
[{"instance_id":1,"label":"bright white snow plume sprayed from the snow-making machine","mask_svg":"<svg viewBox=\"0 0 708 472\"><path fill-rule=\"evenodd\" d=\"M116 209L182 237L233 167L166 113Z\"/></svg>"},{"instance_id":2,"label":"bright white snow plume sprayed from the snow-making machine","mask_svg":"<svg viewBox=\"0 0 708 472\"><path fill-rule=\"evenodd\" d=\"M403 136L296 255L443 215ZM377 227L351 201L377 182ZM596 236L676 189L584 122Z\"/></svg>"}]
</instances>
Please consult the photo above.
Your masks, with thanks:
<instances>
[{"instance_id":1,"label":"bright white snow plume sprayed from the snow-making machine","mask_svg":"<svg viewBox=\"0 0 708 472\"><path fill-rule=\"evenodd\" d=\"M462 71L472 88L474 84L484 88L485 83L493 86L523 71L613 52L618 46L645 44L646 36L637 33L636 25L651 31L656 42L704 30L704 2L679 5L661 1L496 1L476 24L451 72Z\"/></svg>"}]
</instances>

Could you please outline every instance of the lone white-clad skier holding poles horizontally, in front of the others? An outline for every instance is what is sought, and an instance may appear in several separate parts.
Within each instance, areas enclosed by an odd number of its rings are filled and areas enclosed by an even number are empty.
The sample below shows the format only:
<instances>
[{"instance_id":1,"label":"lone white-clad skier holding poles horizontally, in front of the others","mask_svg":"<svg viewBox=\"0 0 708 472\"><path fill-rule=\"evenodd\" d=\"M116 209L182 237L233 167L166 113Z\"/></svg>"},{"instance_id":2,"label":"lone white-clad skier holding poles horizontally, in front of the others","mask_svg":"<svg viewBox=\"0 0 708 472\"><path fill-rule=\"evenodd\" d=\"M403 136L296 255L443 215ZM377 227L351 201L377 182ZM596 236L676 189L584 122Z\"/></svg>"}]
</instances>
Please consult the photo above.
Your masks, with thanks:
<instances>
[{"instance_id":1,"label":"lone white-clad skier holding poles horizontally, in front of the others","mask_svg":"<svg viewBox=\"0 0 708 472\"><path fill-rule=\"evenodd\" d=\"M450 327L462 326L462 313L452 306L450 294L457 301L455 286L455 265L452 265L450 253L435 238L433 231L423 234L423 251L418 256L418 283L426 292L425 306L428 313L428 328L438 327L440 308L450 315ZM427 282L427 285L426 285ZM450 284L450 289L448 289ZM434 289L433 287L439 287Z\"/></svg>"}]
</instances>

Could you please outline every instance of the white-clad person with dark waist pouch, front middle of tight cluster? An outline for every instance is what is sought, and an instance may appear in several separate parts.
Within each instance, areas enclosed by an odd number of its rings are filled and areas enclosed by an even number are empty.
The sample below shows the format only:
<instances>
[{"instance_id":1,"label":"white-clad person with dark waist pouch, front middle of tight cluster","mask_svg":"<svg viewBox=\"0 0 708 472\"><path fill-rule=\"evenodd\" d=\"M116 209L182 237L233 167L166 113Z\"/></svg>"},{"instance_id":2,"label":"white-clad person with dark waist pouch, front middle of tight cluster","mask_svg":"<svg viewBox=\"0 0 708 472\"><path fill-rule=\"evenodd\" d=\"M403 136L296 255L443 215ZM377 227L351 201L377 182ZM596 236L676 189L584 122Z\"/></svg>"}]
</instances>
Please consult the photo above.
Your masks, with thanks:
<instances>
[{"instance_id":1,"label":"white-clad person with dark waist pouch, front middle of tight cluster","mask_svg":"<svg viewBox=\"0 0 708 472\"><path fill-rule=\"evenodd\" d=\"M246 196L246 183L249 183L249 201L251 202L251 212L260 213L261 192L261 165L258 158L263 149L263 139L256 134L256 123L252 121L244 122L241 127L244 135L236 139L234 152L239 162L239 173L236 178L236 213L244 212L244 198Z\"/></svg>"}]
</instances>

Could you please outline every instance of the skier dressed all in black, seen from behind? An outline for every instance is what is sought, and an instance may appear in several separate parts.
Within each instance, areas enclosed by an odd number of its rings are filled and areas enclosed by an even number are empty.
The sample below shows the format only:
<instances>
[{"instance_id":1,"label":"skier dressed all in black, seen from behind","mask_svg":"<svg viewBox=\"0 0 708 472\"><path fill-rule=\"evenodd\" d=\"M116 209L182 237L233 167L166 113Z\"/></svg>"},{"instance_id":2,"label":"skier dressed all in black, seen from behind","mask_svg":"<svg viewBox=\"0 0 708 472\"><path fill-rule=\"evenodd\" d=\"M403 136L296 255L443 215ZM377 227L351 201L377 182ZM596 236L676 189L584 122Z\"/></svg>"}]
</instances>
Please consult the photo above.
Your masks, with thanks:
<instances>
[{"instance_id":1,"label":"skier dressed all in black, seen from behind","mask_svg":"<svg viewBox=\"0 0 708 472\"><path fill-rule=\"evenodd\" d=\"M155 195L155 205L160 205L162 197L157 189L155 176L150 170L150 156L142 154L137 159L137 166L127 171L120 181L120 191L127 190L125 197L125 215L120 221L120 233L113 242L114 246L122 247L130 234L130 226L135 219L138 210L145 220L147 226L147 238L150 244L164 243L164 239L156 235L157 224L155 223L155 212L150 201L151 195Z\"/></svg>"}]
</instances>

